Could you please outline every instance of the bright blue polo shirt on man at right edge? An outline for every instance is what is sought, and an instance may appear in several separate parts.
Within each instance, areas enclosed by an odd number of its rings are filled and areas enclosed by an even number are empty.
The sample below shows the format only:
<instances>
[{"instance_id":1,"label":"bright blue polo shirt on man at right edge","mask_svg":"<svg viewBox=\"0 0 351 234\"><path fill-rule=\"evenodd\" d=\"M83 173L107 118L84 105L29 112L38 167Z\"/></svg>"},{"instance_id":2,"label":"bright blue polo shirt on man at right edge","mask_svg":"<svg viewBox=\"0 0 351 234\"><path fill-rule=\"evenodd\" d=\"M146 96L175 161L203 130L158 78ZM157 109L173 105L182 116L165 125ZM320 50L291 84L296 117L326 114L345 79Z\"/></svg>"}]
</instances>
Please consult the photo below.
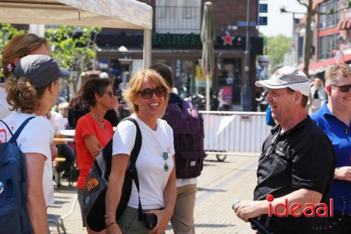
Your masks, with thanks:
<instances>
[{"instance_id":1,"label":"bright blue polo shirt on man at right edge","mask_svg":"<svg viewBox=\"0 0 351 234\"><path fill-rule=\"evenodd\" d=\"M324 133L330 138L336 155L336 167L351 166L351 126L341 122L326 106L326 102L312 115ZM334 211L351 215L351 181L334 179L331 188Z\"/></svg>"}]
</instances>

